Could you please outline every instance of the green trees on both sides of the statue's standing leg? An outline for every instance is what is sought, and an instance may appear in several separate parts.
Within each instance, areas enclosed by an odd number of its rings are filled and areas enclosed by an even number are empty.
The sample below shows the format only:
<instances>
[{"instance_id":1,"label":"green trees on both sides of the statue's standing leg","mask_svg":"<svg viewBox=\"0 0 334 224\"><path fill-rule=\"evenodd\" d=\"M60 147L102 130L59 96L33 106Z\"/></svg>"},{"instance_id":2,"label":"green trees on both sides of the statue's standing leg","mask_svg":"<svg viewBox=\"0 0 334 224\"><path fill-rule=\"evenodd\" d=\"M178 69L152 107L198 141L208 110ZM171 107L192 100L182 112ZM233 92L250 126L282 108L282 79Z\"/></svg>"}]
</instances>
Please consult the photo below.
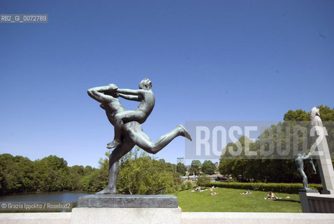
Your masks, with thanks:
<instances>
[{"instance_id":1,"label":"green trees on both sides of the statue's standing leg","mask_svg":"<svg viewBox=\"0 0 334 224\"><path fill-rule=\"evenodd\" d=\"M106 155L110 155L106 153ZM103 190L108 183L108 158L100 159L99 168L68 167L64 158L50 155L31 161L20 155L0 155L0 195L62 190ZM119 161L117 190L125 194L171 193L180 184L175 165L155 160L133 149Z\"/></svg>"}]
</instances>

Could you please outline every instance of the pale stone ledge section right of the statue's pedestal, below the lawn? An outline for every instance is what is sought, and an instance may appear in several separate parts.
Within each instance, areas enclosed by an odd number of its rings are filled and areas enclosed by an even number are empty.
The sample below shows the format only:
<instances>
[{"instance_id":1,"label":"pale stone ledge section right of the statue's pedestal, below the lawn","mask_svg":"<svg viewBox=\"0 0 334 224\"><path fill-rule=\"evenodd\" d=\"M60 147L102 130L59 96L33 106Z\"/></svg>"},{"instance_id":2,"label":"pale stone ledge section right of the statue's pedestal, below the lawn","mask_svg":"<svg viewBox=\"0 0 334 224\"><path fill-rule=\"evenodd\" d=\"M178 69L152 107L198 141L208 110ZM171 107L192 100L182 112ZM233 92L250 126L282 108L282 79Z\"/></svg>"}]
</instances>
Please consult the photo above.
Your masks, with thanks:
<instances>
[{"instance_id":1,"label":"pale stone ledge section right of the statue's pedestal, below the lawn","mask_svg":"<svg viewBox=\"0 0 334 224\"><path fill-rule=\"evenodd\" d=\"M183 212L182 224L333 224L334 214Z\"/></svg>"}]
</instances>

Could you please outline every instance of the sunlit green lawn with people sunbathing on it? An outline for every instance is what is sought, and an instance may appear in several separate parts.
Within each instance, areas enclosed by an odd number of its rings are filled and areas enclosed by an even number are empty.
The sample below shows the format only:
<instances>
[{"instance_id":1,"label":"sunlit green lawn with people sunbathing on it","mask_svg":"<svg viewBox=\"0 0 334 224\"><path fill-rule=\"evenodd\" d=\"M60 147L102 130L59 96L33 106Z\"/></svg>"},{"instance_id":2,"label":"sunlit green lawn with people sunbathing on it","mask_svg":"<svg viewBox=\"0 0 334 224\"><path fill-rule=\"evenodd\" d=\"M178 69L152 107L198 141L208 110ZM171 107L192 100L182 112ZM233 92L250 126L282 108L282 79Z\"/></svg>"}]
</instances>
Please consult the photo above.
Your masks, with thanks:
<instances>
[{"instance_id":1,"label":"sunlit green lawn with people sunbathing on it","mask_svg":"<svg viewBox=\"0 0 334 224\"><path fill-rule=\"evenodd\" d=\"M280 200L264 200L268 192L252 190L250 195L240 195L245 190L216 188L217 195L210 195L210 188L203 192L190 193L184 190L175 193L179 207L188 212L301 212L299 195L275 193ZM290 198L286 198L290 197Z\"/></svg>"}]
</instances>

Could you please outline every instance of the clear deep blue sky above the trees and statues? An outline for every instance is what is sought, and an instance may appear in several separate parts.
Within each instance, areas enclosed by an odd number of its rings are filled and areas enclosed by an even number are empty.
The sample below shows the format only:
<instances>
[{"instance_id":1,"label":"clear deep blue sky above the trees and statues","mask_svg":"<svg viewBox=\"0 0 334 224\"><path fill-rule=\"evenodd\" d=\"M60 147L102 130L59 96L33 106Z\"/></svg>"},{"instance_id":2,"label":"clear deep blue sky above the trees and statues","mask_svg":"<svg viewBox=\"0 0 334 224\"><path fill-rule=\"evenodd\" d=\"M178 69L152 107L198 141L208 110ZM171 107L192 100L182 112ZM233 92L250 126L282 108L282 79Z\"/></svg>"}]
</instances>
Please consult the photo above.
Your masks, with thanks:
<instances>
[{"instance_id":1,"label":"clear deep blue sky above the trees and statues","mask_svg":"<svg viewBox=\"0 0 334 224\"><path fill-rule=\"evenodd\" d=\"M0 0L0 13L49 16L0 24L0 153L97 167L113 127L87 89L143 78L153 141L187 120L334 107L334 1ZM175 163L184 139L156 156Z\"/></svg>"}]
</instances>

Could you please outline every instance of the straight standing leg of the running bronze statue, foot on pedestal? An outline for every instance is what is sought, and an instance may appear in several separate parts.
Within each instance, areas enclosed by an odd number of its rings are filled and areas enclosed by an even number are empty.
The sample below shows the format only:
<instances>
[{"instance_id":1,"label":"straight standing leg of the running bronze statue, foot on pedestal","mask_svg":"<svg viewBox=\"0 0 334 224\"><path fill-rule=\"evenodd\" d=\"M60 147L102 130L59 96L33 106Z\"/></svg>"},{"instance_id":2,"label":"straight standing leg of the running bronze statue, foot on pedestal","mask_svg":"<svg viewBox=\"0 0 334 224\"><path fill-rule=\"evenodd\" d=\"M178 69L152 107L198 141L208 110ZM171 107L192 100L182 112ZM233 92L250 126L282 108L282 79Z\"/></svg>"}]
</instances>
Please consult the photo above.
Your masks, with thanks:
<instances>
[{"instance_id":1,"label":"straight standing leg of the running bronze statue, foot on pedestal","mask_svg":"<svg viewBox=\"0 0 334 224\"><path fill-rule=\"evenodd\" d=\"M116 183L119 171L119 159L126 153L129 153L134 146L135 144L133 144L130 139L123 139L123 143L112 151L109 156L108 186L98 193L95 193L96 195L117 194Z\"/></svg>"}]
</instances>

